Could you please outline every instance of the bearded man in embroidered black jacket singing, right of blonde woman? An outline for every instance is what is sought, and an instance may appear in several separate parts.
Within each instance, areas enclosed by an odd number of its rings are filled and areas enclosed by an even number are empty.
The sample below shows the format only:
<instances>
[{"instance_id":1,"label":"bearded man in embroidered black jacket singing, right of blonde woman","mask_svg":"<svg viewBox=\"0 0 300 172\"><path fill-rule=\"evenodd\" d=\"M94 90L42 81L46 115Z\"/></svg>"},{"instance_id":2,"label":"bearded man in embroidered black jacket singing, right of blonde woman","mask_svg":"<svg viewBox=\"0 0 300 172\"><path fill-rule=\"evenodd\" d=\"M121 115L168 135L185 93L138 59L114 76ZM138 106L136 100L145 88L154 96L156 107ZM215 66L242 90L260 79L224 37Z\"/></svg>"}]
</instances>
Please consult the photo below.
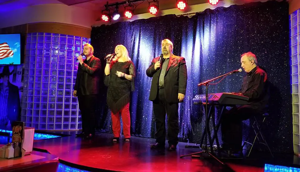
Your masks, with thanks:
<instances>
[{"instance_id":1,"label":"bearded man in embroidered black jacket singing, right of blonde woman","mask_svg":"<svg viewBox=\"0 0 300 172\"><path fill-rule=\"evenodd\" d=\"M187 67L183 57L173 54L173 43L165 39L161 42L163 55L152 60L146 70L152 77L149 100L153 102L156 126L156 144L152 148L164 148L166 139L166 113L168 118L169 150L176 150L179 122L178 103L184 99L187 86ZM161 55L161 56L162 56Z\"/></svg>"}]
</instances>

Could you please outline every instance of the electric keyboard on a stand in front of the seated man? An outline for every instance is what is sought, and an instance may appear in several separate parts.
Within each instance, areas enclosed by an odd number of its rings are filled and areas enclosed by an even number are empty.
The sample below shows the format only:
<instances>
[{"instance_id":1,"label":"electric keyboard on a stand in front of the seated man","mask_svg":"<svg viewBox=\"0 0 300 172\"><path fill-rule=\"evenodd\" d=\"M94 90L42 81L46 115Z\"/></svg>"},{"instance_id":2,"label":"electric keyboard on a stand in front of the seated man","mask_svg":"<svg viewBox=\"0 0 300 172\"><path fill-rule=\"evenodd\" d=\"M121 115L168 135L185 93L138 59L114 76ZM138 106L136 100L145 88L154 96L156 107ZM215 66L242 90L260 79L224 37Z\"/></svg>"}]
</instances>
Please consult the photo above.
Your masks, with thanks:
<instances>
[{"instance_id":1,"label":"electric keyboard on a stand in front of the seated man","mask_svg":"<svg viewBox=\"0 0 300 172\"><path fill-rule=\"evenodd\" d=\"M226 92L208 94L208 104L214 105L244 105L248 100L246 96ZM194 104L205 103L205 94L196 95L193 102Z\"/></svg>"}]
</instances>

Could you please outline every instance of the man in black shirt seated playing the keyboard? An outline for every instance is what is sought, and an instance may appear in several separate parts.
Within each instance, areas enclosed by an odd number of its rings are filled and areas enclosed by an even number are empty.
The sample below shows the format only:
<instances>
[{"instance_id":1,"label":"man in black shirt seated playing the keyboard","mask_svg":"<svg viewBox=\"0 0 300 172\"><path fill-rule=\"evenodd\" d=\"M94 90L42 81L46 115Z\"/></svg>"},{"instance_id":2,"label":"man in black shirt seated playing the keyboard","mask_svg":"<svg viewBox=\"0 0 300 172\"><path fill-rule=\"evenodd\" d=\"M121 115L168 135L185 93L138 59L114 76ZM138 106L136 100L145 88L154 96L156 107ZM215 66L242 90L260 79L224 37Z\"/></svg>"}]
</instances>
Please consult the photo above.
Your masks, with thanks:
<instances>
[{"instance_id":1,"label":"man in black shirt seated playing the keyboard","mask_svg":"<svg viewBox=\"0 0 300 172\"><path fill-rule=\"evenodd\" d=\"M241 67L247 74L240 92L236 94L249 97L248 104L233 107L224 113L221 123L222 148L234 156L242 155L241 122L265 112L269 98L268 77L266 72L258 67L256 56L251 52L242 54Z\"/></svg>"}]
</instances>

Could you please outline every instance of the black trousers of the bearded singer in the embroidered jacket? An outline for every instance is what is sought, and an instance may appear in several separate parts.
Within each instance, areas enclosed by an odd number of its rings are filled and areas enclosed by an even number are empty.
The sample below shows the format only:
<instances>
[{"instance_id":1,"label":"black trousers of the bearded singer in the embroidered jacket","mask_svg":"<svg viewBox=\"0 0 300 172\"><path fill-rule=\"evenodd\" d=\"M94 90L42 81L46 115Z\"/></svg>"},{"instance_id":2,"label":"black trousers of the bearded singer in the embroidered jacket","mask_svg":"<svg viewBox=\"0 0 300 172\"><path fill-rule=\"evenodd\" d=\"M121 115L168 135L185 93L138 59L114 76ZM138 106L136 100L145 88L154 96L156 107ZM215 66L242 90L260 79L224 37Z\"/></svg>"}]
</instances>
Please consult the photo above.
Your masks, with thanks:
<instances>
[{"instance_id":1,"label":"black trousers of the bearded singer in the embroidered jacket","mask_svg":"<svg viewBox=\"0 0 300 172\"><path fill-rule=\"evenodd\" d=\"M153 110L155 116L155 138L156 143L165 144L166 141L166 113L168 123L169 145L178 144L179 117L178 103L167 103L164 89L158 89L158 95L153 101Z\"/></svg>"}]
</instances>

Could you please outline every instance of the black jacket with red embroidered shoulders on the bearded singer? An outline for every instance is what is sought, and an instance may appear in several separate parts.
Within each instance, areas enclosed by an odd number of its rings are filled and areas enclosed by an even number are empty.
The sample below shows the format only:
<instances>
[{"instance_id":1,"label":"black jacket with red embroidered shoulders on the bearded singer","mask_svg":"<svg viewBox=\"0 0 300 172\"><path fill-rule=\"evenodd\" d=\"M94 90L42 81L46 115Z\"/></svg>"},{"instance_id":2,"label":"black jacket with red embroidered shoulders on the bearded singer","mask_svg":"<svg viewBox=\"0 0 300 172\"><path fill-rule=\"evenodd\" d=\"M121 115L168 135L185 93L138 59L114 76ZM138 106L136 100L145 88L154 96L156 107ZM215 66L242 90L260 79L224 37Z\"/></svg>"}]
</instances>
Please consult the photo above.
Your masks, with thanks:
<instances>
[{"instance_id":1,"label":"black jacket with red embroidered shoulders on the bearded singer","mask_svg":"<svg viewBox=\"0 0 300 172\"><path fill-rule=\"evenodd\" d=\"M161 69L155 70L154 64L160 57L152 60L151 65L146 70L148 77L152 77L149 100L154 101L158 91L158 79ZM187 87L187 66L183 57L171 54L164 77L164 92L168 103L179 103L178 93L185 95Z\"/></svg>"}]
</instances>

